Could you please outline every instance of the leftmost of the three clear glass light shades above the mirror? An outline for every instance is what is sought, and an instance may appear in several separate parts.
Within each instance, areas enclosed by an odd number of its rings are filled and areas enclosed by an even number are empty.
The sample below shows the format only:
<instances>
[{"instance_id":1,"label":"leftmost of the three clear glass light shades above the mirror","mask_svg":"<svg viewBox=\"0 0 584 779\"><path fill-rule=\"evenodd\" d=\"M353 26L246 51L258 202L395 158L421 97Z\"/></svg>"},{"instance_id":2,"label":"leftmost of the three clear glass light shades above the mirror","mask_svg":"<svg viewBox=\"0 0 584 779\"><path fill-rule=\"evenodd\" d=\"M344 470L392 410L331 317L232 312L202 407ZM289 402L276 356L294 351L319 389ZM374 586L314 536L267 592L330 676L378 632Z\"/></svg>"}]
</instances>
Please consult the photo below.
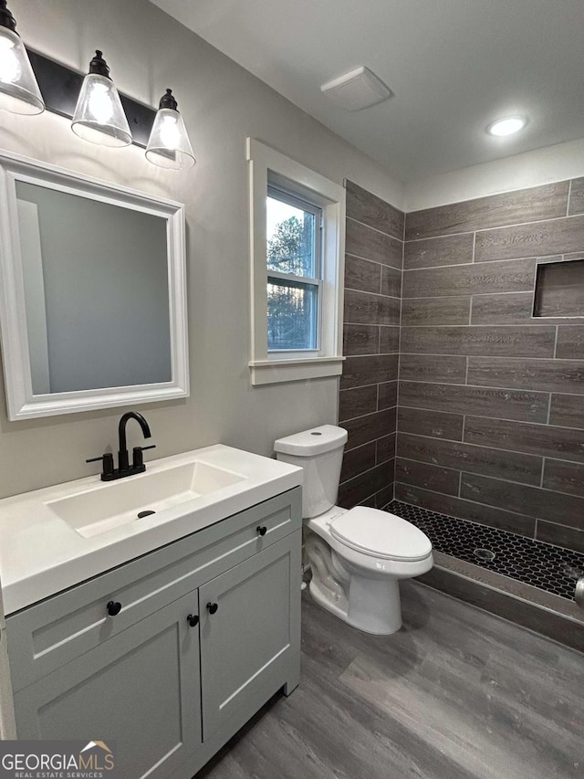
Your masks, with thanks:
<instances>
[{"instance_id":1,"label":"leftmost of the three clear glass light shades above the mirror","mask_svg":"<svg viewBox=\"0 0 584 779\"><path fill-rule=\"evenodd\" d=\"M0 109L29 115L45 111L25 45L5 26L0 26Z\"/></svg>"}]
</instances>

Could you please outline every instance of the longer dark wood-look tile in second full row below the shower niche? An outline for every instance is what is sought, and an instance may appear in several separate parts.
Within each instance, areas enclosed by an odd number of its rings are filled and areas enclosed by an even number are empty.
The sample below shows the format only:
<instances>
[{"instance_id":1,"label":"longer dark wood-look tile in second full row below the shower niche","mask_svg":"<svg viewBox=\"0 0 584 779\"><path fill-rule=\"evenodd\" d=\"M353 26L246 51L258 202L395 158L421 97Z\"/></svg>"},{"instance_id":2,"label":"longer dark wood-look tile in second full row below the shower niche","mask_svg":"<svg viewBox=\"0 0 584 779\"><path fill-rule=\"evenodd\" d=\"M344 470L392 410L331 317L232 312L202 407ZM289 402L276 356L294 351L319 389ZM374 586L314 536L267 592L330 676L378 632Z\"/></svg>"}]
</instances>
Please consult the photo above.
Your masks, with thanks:
<instances>
[{"instance_id":1,"label":"longer dark wood-look tile in second full row below the shower niche","mask_svg":"<svg viewBox=\"0 0 584 779\"><path fill-rule=\"evenodd\" d=\"M467 384L584 395L584 360L469 357Z\"/></svg>"}]
</instances>

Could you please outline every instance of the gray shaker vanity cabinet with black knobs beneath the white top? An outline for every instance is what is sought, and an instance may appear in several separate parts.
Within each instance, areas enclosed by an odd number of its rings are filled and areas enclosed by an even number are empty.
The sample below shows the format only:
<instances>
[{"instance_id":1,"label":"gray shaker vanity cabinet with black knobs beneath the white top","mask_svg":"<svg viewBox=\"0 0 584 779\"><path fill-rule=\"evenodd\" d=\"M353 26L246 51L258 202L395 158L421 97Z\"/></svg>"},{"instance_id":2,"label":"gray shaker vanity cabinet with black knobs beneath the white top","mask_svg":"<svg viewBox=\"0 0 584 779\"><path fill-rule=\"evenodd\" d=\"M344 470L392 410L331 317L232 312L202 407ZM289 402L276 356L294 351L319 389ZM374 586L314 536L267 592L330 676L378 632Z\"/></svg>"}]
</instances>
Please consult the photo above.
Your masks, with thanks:
<instances>
[{"instance_id":1,"label":"gray shaker vanity cabinet with black knobs beneath the white top","mask_svg":"<svg viewBox=\"0 0 584 779\"><path fill-rule=\"evenodd\" d=\"M190 779L297 686L300 502L287 490L8 616L17 738L112 742L120 779Z\"/></svg>"}]
</instances>

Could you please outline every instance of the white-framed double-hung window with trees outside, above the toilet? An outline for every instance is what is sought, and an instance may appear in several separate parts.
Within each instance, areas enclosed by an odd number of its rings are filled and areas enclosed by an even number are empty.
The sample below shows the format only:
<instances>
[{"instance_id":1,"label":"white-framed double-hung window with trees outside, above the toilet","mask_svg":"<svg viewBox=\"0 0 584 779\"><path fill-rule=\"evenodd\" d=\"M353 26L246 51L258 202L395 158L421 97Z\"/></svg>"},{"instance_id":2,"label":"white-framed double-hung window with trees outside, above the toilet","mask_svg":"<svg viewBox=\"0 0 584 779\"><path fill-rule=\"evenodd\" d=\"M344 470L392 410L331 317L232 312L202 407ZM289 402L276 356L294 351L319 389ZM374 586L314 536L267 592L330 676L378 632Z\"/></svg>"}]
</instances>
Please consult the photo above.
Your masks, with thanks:
<instances>
[{"instance_id":1,"label":"white-framed double-hung window with trees outside, above the toilet","mask_svg":"<svg viewBox=\"0 0 584 779\"><path fill-rule=\"evenodd\" d=\"M345 190L248 139L252 384L339 375Z\"/></svg>"}]
</instances>

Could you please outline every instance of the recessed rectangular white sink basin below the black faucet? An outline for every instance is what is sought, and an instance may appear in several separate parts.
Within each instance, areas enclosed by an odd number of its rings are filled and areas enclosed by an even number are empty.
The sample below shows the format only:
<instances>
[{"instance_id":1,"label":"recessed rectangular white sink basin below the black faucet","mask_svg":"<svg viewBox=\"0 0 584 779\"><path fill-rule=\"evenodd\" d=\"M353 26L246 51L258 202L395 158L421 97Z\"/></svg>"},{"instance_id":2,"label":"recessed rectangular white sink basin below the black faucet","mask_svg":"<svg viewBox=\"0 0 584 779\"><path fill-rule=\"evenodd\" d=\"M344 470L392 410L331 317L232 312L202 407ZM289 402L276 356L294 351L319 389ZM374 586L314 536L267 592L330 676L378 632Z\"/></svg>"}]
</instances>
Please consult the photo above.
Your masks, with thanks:
<instances>
[{"instance_id":1,"label":"recessed rectangular white sink basin below the black faucet","mask_svg":"<svg viewBox=\"0 0 584 779\"><path fill-rule=\"evenodd\" d=\"M245 479L239 473L204 462L146 471L120 481L100 482L92 490L45 505L84 538L140 522L152 513L172 509ZM139 517L143 511L149 513Z\"/></svg>"}]
</instances>

